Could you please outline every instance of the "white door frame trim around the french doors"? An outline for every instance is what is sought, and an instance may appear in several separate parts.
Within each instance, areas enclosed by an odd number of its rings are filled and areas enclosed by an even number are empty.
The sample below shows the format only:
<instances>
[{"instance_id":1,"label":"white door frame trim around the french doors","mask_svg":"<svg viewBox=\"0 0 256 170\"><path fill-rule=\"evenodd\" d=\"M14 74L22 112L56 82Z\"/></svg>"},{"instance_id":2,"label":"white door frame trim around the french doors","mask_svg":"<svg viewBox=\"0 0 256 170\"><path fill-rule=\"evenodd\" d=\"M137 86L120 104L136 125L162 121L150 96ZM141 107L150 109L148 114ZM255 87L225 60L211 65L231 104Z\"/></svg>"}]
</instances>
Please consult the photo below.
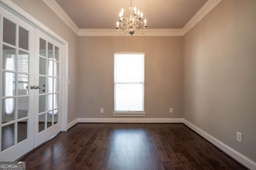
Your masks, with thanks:
<instances>
[{"instance_id":1,"label":"white door frame trim around the french doors","mask_svg":"<svg viewBox=\"0 0 256 170\"><path fill-rule=\"evenodd\" d=\"M68 130L68 41L54 33L40 21L36 20L33 16L28 14L22 8L14 4L10 0L0 0L0 6L18 16L22 20L26 21L30 25L34 26L36 29L39 29L46 35L50 36L52 39L58 41L62 44L62 82L61 82L61 93L62 93L62 120L61 120L61 131Z\"/></svg>"}]
</instances>

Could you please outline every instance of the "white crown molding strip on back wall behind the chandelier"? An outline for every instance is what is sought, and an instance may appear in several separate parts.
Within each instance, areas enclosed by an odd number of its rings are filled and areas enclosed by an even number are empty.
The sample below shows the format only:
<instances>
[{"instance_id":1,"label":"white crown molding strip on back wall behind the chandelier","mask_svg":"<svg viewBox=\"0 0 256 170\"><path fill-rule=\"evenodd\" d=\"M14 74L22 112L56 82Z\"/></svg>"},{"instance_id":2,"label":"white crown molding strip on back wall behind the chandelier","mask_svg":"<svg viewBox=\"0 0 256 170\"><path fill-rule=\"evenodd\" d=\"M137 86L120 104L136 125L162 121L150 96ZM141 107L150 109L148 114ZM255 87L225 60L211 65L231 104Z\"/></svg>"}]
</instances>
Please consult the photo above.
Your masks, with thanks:
<instances>
[{"instance_id":1,"label":"white crown molding strip on back wall behind the chandelier","mask_svg":"<svg viewBox=\"0 0 256 170\"><path fill-rule=\"evenodd\" d=\"M119 35L116 29L79 29L78 36L128 36L130 34ZM182 29L147 29L144 34L134 34L132 36L183 36Z\"/></svg>"}]
</instances>

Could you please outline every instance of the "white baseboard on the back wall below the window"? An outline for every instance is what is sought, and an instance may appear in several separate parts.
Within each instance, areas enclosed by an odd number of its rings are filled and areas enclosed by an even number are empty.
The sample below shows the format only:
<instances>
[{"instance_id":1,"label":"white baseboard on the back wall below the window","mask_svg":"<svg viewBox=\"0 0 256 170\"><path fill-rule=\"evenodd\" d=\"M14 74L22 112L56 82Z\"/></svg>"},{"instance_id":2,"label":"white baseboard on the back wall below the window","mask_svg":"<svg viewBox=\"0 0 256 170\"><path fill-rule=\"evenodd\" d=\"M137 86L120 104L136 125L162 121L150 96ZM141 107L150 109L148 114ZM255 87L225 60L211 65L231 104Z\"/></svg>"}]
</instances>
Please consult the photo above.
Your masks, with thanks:
<instances>
[{"instance_id":1,"label":"white baseboard on the back wall below the window","mask_svg":"<svg viewBox=\"0 0 256 170\"><path fill-rule=\"evenodd\" d=\"M79 123L182 123L182 118L78 118Z\"/></svg>"}]
</instances>

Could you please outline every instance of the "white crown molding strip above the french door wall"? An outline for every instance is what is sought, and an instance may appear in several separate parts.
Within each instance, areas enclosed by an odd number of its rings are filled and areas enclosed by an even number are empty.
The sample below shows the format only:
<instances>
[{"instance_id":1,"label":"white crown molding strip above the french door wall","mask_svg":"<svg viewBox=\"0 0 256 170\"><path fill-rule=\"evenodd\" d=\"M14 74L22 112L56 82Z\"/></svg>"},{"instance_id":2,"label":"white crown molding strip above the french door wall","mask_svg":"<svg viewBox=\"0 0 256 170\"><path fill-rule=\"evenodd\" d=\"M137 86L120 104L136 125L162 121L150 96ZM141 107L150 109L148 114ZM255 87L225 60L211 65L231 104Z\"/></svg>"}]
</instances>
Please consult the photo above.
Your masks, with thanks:
<instances>
[{"instance_id":1,"label":"white crown molding strip above the french door wall","mask_svg":"<svg viewBox=\"0 0 256 170\"><path fill-rule=\"evenodd\" d=\"M42 0L64 23L78 34L79 27L74 23L74 21L68 16L68 14L60 7L60 5L55 0Z\"/></svg>"}]
</instances>

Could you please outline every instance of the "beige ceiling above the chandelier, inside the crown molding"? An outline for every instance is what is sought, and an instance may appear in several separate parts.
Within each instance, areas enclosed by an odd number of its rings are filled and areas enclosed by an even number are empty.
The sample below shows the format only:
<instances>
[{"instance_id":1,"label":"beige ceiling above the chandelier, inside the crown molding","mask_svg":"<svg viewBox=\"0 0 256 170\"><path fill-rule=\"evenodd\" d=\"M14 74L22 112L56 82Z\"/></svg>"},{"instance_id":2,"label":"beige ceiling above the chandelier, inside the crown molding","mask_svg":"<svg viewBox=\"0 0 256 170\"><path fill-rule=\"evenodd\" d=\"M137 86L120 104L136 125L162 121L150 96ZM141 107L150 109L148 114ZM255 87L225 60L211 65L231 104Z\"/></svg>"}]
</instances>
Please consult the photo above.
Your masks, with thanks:
<instances>
[{"instance_id":1,"label":"beige ceiling above the chandelier, inside the crown molding","mask_svg":"<svg viewBox=\"0 0 256 170\"><path fill-rule=\"evenodd\" d=\"M128 16L130 0L56 0L80 29L116 27L119 12ZM150 29L181 29L207 0L132 0Z\"/></svg>"}]
</instances>

